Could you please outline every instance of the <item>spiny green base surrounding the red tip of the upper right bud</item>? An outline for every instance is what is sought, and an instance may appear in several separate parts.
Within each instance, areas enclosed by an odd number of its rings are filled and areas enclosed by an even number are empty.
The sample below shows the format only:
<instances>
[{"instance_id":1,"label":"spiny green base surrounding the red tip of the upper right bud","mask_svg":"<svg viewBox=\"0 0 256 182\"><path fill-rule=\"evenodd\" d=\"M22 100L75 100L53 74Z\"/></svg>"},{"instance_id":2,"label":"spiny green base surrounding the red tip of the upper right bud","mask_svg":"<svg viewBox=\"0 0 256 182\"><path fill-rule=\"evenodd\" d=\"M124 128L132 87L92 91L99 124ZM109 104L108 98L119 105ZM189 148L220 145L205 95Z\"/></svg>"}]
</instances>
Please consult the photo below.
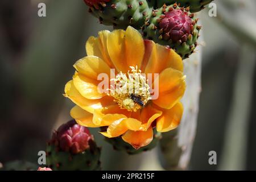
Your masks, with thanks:
<instances>
[{"instance_id":1,"label":"spiny green base surrounding the red tip of the upper right bud","mask_svg":"<svg viewBox=\"0 0 256 182\"><path fill-rule=\"evenodd\" d=\"M185 42L173 42L170 38L164 38L163 32L159 27L159 23L165 14L174 9L182 10L192 19L192 31L191 34L188 35L187 41ZM197 46L197 39L199 37L199 31L201 28L200 26L197 26L197 20L198 19L195 18L195 15L189 12L188 8L184 9L184 7L179 7L176 3L170 6L164 5L160 9L152 11L151 18L147 19L142 27L142 35L144 39L150 39L163 46L169 46L170 48L174 49L174 51L178 53L182 59L186 59L195 51Z\"/></svg>"}]
</instances>

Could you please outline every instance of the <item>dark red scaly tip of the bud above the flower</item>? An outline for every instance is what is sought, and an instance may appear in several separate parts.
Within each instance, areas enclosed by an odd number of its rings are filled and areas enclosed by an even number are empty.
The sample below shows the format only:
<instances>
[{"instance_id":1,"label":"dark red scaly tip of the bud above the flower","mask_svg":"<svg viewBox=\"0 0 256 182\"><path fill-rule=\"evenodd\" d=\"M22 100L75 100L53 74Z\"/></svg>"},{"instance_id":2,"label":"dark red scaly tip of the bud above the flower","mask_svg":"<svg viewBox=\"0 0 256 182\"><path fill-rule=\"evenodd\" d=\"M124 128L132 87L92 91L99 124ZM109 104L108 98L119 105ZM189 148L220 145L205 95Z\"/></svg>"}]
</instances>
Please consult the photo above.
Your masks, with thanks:
<instances>
[{"instance_id":1,"label":"dark red scaly tip of the bud above the flower","mask_svg":"<svg viewBox=\"0 0 256 182\"><path fill-rule=\"evenodd\" d=\"M180 9L173 9L165 14L159 27L163 28L164 35L170 36L172 42L186 42L191 34L191 24L192 19L187 14Z\"/></svg>"}]
</instances>

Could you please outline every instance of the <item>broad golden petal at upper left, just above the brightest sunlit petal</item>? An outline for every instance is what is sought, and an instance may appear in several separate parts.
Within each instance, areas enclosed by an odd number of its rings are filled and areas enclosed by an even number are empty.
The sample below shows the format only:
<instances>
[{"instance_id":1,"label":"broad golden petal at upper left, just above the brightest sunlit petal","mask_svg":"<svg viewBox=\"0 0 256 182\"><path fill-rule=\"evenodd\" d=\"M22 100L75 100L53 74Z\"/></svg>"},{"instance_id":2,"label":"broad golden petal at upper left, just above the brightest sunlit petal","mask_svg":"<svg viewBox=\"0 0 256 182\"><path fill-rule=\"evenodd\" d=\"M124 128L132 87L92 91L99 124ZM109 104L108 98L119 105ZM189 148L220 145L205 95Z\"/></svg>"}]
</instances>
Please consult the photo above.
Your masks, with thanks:
<instances>
[{"instance_id":1,"label":"broad golden petal at upper left, just above the brightest sunlit petal","mask_svg":"<svg viewBox=\"0 0 256 182\"><path fill-rule=\"evenodd\" d=\"M97 80L100 73L106 73L110 78L110 67L100 57L86 56L76 61L73 66L77 72L93 80Z\"/></svg>"}]
</instances>

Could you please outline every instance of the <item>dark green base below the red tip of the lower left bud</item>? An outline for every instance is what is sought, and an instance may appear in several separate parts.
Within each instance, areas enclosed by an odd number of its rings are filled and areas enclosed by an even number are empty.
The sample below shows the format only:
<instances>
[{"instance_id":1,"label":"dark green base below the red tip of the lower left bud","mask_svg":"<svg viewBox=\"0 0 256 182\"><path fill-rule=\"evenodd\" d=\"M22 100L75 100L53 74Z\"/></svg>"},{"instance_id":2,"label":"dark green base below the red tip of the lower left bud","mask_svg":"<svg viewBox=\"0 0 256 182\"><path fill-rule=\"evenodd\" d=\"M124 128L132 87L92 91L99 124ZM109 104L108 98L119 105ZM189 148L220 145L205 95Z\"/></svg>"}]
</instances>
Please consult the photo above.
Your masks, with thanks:
<instances>
[{"instance_id":1,"label":"dark green base below the red tip of the lower left bud","mask_svg":"<svg viewBox=\"0 0 256 182\"><path fill-rule=\"evenodd\" d=\"M80 154L71 154L70 152L58 151L54 144L47 146L46 163L53 171L94 171L100 170L100 148L96 146L93 140L89 141L90 149Z\"/></svg>"}]
</instances>

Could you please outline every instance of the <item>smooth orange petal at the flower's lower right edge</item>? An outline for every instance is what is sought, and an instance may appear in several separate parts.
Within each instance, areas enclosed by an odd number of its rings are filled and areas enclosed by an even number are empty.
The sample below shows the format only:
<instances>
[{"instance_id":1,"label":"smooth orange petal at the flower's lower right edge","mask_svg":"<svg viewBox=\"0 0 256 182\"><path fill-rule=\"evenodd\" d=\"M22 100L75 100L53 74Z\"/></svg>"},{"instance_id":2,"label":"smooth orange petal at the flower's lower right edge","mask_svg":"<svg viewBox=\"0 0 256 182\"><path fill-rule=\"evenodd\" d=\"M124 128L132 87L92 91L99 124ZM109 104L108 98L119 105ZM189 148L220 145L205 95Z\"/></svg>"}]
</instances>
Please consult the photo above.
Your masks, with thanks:
<instances>
[{"instance_id":1,"label":"smooth orange petal at the flower's lower right edge","mask_svg":"<svg viewBox=\"0 0 256 182\"><path fill-rule=\"evenodd\" d=\"M163 114L156 119L156 130L159 132L167 132L176 129L179 126L182 114L183 106L178 102L171 109L162 109Z\"/></svg>"}]
</instances>

